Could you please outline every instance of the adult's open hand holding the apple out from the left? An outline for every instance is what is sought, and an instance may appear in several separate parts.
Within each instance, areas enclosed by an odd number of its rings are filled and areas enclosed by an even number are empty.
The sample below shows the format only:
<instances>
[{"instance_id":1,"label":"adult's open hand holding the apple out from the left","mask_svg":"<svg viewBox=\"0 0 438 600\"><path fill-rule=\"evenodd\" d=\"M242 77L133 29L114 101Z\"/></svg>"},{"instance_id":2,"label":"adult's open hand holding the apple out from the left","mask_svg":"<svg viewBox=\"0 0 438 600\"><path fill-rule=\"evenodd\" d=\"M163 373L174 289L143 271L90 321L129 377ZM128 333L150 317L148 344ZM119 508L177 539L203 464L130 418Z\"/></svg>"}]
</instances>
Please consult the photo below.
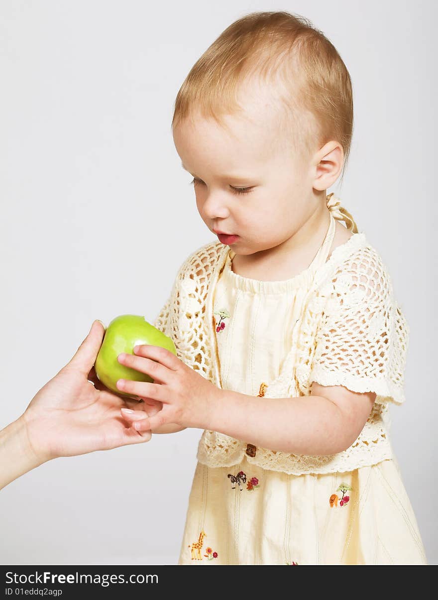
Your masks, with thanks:
<instances>
[{"instance_id":1,"label":"adult's open hand holding the apple out from the left","mask_svg":"<svg viewBox=\"0 0 438 600\"><path fill-rule=\"evenodd\" d=\"M132 419L124 418L123 410L138 409L139 401L109 391L97 379L94 363L104 331L100 321L92 324L71 361L35 394L19 419L40 463L151 439L151 430L136 431Z\"/></svg>"}]
</instances>

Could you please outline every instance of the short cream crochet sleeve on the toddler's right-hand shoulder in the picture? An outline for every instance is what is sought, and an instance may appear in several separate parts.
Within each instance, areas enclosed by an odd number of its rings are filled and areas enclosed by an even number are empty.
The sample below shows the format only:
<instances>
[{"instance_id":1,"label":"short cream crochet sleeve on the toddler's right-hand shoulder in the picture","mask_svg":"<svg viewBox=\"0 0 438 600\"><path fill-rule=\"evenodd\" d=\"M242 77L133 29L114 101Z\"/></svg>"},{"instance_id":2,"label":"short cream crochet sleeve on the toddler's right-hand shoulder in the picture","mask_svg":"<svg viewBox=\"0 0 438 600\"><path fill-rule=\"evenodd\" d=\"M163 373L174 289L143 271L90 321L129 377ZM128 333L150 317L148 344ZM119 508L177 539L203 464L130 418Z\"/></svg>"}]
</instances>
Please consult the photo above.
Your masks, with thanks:
<instances>
[{"instance_id":1,"label":"short cream crochet sleeve on the toddler's right-hand shoulder in the picture","mask_svg":"<svg viewBox=\"0 0 438 600\"><path fill-rule=\"evenodd\" d=\"M338 268L332 285L310 381L376 392L380 404L403 403L409 326L379 255L362 248Z\"/></svg>"}]
</instances>

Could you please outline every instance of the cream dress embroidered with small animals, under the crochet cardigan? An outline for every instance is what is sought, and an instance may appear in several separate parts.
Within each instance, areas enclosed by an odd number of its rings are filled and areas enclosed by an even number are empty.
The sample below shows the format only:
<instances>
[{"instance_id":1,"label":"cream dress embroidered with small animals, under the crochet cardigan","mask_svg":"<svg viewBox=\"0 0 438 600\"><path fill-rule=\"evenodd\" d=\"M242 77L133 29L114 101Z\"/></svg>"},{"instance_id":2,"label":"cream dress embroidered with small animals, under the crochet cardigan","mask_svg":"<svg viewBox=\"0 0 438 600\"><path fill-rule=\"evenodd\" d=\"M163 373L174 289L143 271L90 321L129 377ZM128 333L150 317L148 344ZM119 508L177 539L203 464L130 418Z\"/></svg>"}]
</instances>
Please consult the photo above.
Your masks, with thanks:
<instances>
[{"instance_id":1,"label":"cream dress embroidered with small animals, under the crochet cardigan","mask_svg":"<svg viewBox=\"0 0 438 600\"><path fill-rule=\"evenodd\" d=\"M300 302L335 231L305 271L259 281L232 270L214 290L223 389L263 395L290 349ZM219 329L218 329L219 328ZM197 463L179 565L425 565L415 514L395 459L351 472L288 475L248 463Z\"/></svg>"}]
</instances>

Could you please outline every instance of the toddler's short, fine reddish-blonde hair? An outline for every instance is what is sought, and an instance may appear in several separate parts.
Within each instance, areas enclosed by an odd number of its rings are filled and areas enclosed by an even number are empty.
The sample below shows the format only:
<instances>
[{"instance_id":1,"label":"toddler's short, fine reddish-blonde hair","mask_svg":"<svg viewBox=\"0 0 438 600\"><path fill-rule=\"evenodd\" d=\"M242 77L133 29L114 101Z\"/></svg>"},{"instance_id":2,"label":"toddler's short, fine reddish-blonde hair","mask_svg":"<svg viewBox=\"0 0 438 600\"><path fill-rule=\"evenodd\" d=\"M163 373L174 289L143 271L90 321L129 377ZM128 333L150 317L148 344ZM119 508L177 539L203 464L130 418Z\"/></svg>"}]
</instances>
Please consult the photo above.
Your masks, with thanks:
<instances>
[{"instance_id":1,"label":"toddler's short, fine reddish-blonde hair","mask_svg":"<svg viewBox=\"0 0 438 600\"><path fill-rule=\"evenodd\" d=\"M305 17L286 11L250 13L229 25L195 62L175 99L172 129L182 120L221 120L243 112L242 85L258 77L269 83L272 101L282 108L281 121L293 131L291 140L307 152L337 140L343 147L344 169L353 133L353 91L339 53ZM273 85L274 84L274 85ZM278 95L275 91L278 90ZM299 121L299 116L305 118ZM305 127L303 128L303 121ZM295 127L294 127L295 125ZM329 206L329 198L327 203ZM337 205L335 218L357 233L349 212Z\"/></svg>"}]
</instances>

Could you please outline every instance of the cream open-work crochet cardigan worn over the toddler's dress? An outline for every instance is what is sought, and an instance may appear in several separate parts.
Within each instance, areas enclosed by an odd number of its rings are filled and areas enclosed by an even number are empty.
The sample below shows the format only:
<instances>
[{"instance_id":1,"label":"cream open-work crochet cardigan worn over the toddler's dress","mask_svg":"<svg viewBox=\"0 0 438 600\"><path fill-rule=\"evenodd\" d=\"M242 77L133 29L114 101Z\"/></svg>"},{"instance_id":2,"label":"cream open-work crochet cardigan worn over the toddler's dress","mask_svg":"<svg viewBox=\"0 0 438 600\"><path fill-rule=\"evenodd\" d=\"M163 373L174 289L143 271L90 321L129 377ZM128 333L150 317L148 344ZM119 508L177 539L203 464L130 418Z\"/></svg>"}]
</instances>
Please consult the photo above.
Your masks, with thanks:
<instances>
[{"instance_id":1,"label":"cream open-work crochet cardigan worn over the toddler's dress","mask_svg":"<svg viewBox=\"0 0 438 600\"><path fill-rule=\"evenodd\" d=\"M331 202L328 206L337 218L337 205ZM178 358L219 388L212 304L215 284L229 257L230 248L218 241L190 254L154 322L172 338ZM268 386L260 386L259 396L269 401L310 395L313 381L342 385L353 392L376 392L358 438L334 455L295 455L256 448L245 440L205 430L197 460L210 467L229 467L246 455L250 463L265 469L301 475L350 471L392 458L389 403L405 400L408 338L409 326L381 257L364 232L353 233L312 274L280 374Z\"/></svg>"}]
</instances>

